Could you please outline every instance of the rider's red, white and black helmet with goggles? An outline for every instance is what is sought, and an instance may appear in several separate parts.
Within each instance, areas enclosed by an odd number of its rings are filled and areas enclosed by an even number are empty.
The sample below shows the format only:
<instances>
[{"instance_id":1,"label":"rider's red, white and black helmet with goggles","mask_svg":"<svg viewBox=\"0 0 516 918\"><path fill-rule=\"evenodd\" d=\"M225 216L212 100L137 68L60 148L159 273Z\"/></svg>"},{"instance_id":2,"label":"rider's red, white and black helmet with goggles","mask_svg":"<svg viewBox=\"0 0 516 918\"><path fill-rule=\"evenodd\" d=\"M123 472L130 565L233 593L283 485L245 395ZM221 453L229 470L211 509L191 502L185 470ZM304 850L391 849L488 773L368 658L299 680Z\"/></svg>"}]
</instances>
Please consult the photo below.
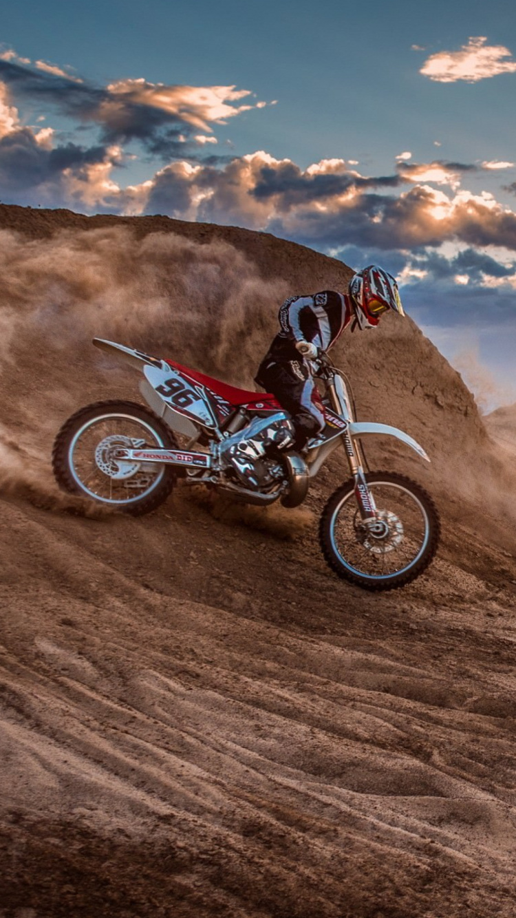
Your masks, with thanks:
<instances>
[{"instance_id":1,"label":"rider's red, white and black helmet with goggles","mask_svg":"<svg viewBox=\"0 0 516 918\"><path fill-rule=\"evenodd\" d=\"M375 328L387 309L394 309L400 316L405 315L395 278L376 264L353 274L348 296L355 323L361 330Z\"/></svg>"}]
</instances>

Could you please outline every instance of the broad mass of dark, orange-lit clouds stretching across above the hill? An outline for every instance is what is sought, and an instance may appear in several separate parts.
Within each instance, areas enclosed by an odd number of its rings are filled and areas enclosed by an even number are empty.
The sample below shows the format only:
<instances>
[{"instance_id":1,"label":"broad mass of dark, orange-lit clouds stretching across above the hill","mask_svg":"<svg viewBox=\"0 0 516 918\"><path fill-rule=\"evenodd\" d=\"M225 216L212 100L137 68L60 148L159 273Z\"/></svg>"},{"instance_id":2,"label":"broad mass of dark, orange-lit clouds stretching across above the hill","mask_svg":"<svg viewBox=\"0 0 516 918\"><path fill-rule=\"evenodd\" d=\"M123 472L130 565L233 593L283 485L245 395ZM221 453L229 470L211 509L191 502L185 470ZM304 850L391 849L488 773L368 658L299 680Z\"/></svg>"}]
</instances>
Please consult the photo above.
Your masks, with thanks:
<instances>
[{"instance_id":1,"label":"broad mass of dark, orange-lit clouds stretching across above the hill","mask_svg":"<svg viewBox=\"0 0 516 918\"><path fill-rule=\"evenodd\" d=\"M342 158L302 168L266 151L208 156L218 125L262 106L247 90L143 79L100 87L37 64L28 66L15 52L0 54L3 201L264 230L355 265L384 264L409 287L416 308L428 302L429 290L439 290L445 307L434 304L437 315L450 304L457 316L467 308L477 316L514 308L516 213L488 192L461 189L466 175L493 174L512 163L412 162L400 148L392 174L368 175ZM18 113L26 100L37 127ZM96 142L71 142L70 134L64 142L58 131L39 127L41 106L50 105L75 126L96 128ZM77 136L84 140L84 131ZM126 179L124 186L132 142L157 162L145 181ZM509 190L516 192L516 183Z\"/></svg>"}]
</instances>

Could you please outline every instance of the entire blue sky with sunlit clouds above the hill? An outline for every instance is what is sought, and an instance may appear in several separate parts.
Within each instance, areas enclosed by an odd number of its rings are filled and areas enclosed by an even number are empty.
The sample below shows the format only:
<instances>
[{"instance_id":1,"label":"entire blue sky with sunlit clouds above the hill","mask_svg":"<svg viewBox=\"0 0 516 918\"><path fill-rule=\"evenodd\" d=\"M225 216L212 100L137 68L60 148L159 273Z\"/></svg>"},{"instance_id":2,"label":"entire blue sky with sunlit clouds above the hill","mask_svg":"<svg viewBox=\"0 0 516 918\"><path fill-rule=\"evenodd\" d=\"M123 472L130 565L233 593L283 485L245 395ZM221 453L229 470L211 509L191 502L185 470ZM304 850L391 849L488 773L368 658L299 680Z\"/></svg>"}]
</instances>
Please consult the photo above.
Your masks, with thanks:
<instances>
[{"instance_id":1,"label":"entire blue sky with sunlit clouds above the hill","mask_svg":"<svg viewBox=\"0 0 516 918\"><path fill-rule=\"evenodd\" d=\"M0 200L380 264L488 410L516 401L515 97L512 0L17 0Z\"/></svg>"}]
</instances>

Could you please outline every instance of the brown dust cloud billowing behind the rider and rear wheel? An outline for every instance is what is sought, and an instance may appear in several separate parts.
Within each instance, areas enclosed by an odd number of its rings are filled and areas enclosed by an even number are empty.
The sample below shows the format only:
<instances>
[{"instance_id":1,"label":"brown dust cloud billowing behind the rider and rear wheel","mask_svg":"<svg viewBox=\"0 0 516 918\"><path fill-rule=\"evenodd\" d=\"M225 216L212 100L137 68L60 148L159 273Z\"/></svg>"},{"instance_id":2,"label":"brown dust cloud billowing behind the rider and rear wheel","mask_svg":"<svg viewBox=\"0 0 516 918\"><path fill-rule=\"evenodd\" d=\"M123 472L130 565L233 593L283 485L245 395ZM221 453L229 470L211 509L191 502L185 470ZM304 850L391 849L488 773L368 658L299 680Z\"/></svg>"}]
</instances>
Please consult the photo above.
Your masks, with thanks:
<instances>
[{"instance_id":1,"label":"brown dust cloud billowing behind the rider and rear wheel","mask_svg":"<svg viewBox=\"0 0 516 918\"><path fill-rule=\"evenodd\" d=\"M61 509L48 470L62 421L90 392L138 400L127 367L95 351L94 336L222 378L230 366L230 382L252 386L285 292L227 242L137 239L126 227L31 241L2 230L0 276L0 487Z\"/></svg>"}]
</instances>

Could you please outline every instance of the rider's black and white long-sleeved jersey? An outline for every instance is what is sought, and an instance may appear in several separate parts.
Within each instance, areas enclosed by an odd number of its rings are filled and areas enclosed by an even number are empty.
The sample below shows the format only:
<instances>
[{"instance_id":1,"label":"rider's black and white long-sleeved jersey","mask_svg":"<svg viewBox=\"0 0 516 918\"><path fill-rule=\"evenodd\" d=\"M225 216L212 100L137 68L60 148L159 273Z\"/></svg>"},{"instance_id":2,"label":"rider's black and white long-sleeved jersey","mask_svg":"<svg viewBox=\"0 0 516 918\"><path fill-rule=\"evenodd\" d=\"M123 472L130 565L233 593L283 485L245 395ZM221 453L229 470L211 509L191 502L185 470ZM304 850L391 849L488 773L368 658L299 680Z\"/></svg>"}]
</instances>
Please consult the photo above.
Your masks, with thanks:
<instances>
[{"instance_id":1,"label":"rider's black and white long-sleeved jersey","mask_svg":"<svg viewBox=\"0 0 516 918\"><path fill-rule=\"evenodd\" d=\"M346 321L344 297L335 290L322 290L310 297L289 297L279 310L281 331L267 356L271 360L294 360L297 341L310 341L328 351Z\"/></svg>"}]
</instances>

